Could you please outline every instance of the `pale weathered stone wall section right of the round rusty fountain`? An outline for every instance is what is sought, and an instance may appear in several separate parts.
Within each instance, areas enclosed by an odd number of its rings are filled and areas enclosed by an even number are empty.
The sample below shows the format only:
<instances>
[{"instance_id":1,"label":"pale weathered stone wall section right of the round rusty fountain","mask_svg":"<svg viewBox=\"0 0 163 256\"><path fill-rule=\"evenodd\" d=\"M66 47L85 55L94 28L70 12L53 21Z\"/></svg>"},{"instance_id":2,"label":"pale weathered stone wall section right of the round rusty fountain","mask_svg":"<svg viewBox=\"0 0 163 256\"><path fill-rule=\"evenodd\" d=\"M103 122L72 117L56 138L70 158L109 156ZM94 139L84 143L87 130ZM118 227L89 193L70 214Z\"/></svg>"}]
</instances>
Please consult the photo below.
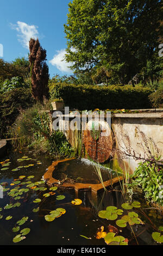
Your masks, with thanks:
<instances>
[{"instance_id":1,"label":"pale weathered stone wall section right of the round rusty fountain","mask_svg":"<svg viewBox=\"0 0 163 256\"><path fill-rule=\"evenodd\" d=\"M133 173L141 160L135 156L148 158L148 150L152 155L161 155L163 159L163 112L139 114L115 114L111 122L118 148L118 162ZM147 154L145 154L145 151Z\"/></svg>"}]
</instances>

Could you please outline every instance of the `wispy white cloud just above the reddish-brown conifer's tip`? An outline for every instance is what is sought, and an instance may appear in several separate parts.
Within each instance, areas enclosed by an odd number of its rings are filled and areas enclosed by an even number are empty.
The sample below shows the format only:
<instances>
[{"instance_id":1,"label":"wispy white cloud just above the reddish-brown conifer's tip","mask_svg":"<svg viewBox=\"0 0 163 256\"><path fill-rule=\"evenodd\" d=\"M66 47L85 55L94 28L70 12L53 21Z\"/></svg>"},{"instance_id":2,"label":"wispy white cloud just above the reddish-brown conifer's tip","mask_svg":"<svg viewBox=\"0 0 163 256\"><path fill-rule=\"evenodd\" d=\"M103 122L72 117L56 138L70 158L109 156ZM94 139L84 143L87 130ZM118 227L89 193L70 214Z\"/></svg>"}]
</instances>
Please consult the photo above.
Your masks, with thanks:
<instances>
[{"instance_id":1,"label":"wispy white cloud just above the reddish-brown conifer's tip","mask_svg":"<svg viewBox=\"0 0 163 256\"><path fill-rule=\"evenodd\" d=\"M25 22L17 21L17 24L10 24L12 29L15 29L18 34L18 41L21 42L23 47L29 49L29 40L30 38L37 39L39 37L39 32L37 31L37 26L28 25Z\"/></svg>"}]
</instances>

